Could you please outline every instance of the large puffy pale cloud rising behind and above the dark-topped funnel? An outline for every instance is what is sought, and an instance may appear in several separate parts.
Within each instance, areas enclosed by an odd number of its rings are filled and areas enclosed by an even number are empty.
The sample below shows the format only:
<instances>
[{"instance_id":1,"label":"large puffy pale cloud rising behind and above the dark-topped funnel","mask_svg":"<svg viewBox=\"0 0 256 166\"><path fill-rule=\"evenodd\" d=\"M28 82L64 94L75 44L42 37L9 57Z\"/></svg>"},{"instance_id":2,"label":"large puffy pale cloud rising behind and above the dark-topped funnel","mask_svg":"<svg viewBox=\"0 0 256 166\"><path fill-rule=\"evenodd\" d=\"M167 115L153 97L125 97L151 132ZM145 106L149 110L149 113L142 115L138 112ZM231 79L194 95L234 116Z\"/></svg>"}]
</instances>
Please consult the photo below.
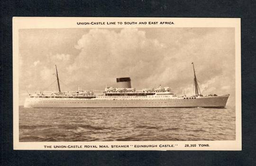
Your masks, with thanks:
<instances>
[{"instance_id":1,"label":"large puffy pale cloud rising behind and above the dark-topped funnel","mask_svg":"<svg viewBox=\"0 0 256 166\"><path fill-rule=\"evenodd\" d=\"M144 31L136 28L122 29L119 33L106 29L91 29L75 45L81 50L70 69L74 81L81 75L86 80L115 80L130 76L146 79L161 66L165 44L146 37ZM159 67L161 68L161 67ZM98 83L96 83L98 84Z\"/></svg>"}]
</instances>

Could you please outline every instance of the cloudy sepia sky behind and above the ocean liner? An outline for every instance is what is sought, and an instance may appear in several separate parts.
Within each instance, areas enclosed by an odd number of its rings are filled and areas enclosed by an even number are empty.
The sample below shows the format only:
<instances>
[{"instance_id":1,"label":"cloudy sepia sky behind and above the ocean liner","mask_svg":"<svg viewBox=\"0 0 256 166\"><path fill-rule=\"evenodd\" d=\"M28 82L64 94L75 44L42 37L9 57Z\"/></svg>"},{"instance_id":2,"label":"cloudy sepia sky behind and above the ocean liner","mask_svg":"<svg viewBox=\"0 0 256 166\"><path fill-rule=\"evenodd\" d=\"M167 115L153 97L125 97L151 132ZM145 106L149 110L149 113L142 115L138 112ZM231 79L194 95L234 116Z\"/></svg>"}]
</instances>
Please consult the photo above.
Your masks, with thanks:
<instances>
[{"instance_id":1,"label":"cloudy sepia sky behind and above the ocean liner","mask_svg":"<svg viewBox=\"0 0 256 166\"><path fill-rule=\"evenodd\" d=\"M230 94L235 105L234 28L70 28L19 30L19 105L28 93L103 91L116 78L133 88L170 87L193 94L195 65L200 90Z\"/></svg>"}]
</instances>

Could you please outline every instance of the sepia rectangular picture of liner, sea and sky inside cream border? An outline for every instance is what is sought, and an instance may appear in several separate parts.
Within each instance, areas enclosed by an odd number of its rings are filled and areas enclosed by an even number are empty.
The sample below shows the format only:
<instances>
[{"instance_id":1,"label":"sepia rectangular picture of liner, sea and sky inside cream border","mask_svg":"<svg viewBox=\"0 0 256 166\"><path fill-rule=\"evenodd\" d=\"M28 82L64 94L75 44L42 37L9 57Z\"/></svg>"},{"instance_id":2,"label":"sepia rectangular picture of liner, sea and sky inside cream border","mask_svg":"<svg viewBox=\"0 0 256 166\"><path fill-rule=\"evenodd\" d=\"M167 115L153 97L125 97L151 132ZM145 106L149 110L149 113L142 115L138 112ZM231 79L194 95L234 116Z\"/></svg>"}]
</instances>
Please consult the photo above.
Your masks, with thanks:
<instances>
[{"instance_id":1,"label":"sepia rectangular picture of liner, sea and sky inside cream border","mask_svg":"<svg viewBox=\"0 0 256 166\"><path fill-rule=\"evenodd\" d=\"M235 27L172 23L18 29L18 142L236 141Z\"/></svg>"}]
</instances>

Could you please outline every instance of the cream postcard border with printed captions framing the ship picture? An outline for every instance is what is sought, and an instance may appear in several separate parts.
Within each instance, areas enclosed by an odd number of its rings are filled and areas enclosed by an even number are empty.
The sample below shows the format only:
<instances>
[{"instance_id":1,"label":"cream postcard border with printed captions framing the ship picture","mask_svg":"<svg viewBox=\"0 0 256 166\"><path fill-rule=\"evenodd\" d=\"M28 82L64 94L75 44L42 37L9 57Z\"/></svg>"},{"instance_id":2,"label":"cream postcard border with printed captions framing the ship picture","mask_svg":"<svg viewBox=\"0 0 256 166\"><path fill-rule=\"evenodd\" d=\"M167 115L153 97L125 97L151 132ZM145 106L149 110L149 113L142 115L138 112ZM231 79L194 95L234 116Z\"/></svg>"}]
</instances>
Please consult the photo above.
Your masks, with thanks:
<instances>
[{"instance_id":1,"label":"cream postcard border with printed captions framing the ship picture","mask_svg":"<svg viewBox=\"0 0 256 166\"><path fill-rule=\"evenodd\" d=\"M167 25L77 25L77 22L169 22ZM173 23L173 24L172 24ZM124 28L124 27L234 27L236 47L236 140L235 141L90 141L19 142L18 30L28 28ZM241 150L241 29L240 18L165 17L13 17L13 149L29 150ZM186 144L196 147L185 147ZM209 145L200 146L199 144ZM109 148L100 148L108 145ZM157 145L144 148L135 145ZM114 147L112 147L114 146ZM122 147L123 146L123 147ZM125 147L126 146L126 147ZM55 148L59 147L59 148ZM97 147L97 148L95 148Z\"/></svg>"}]
</instances>

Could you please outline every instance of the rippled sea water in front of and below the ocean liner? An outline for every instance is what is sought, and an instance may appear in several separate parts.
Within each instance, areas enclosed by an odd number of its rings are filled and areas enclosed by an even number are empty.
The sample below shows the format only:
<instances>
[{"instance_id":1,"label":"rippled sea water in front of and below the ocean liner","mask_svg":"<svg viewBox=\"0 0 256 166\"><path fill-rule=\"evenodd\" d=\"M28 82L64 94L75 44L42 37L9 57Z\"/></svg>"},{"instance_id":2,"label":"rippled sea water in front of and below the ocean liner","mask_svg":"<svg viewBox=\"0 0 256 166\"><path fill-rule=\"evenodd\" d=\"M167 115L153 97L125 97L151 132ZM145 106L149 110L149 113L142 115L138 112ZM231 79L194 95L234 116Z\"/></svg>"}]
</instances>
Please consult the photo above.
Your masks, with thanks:
<instances>
[{"instance_id":1,"label":"rippled sea water in front of and below the ocean liner","mask_svg":"<svg viewBox=\"0 0 256 166\"><path fill-rule=\"evenodd\" d=\"M24 108L19 141L235 140L235 107Z\"/></svg>"}]
</instances>

